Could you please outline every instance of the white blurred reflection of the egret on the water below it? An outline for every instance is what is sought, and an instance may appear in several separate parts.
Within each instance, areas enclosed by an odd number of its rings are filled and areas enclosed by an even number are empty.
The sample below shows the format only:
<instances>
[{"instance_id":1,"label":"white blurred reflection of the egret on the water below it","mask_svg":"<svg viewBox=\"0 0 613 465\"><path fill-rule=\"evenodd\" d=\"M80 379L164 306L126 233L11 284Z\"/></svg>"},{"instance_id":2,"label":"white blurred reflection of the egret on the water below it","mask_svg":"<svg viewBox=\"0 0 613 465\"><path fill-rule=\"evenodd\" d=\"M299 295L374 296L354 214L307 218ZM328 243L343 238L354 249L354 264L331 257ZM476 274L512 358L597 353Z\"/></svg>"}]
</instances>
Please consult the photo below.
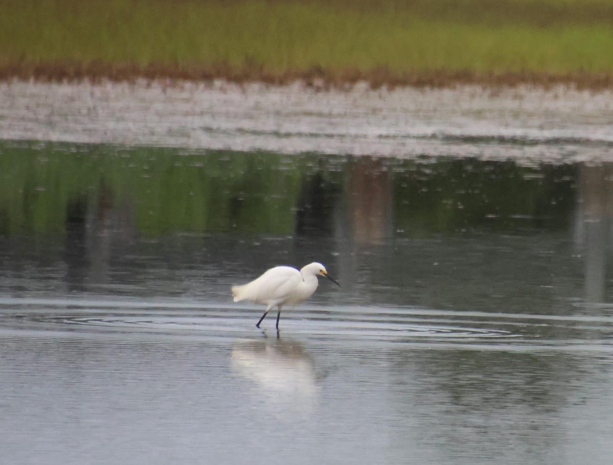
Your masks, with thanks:
<instances>
[{"instance_id":1,"label":"white blurred reflection of the egret on the water below it","mask_svg":"<svg viewBox=\"0 0 613 465\"><path fill-rule=\"evenodd\" d=\"M321 375L299 342L278 336L237 341L231 365L253 382L258 401L276 417L308 415L318 403Z\"/></svg>"}]
</instances>

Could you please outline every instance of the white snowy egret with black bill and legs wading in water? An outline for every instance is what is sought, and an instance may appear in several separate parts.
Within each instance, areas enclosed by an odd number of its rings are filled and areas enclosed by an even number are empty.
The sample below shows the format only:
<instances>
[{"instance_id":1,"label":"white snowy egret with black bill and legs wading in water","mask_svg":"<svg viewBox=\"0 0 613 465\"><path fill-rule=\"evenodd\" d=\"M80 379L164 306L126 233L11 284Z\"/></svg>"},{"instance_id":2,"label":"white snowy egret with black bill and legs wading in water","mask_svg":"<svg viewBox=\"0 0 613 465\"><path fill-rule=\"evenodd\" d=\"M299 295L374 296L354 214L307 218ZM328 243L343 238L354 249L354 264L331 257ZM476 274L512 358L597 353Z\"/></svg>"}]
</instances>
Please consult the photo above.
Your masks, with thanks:
<instances>
[{"instance_id":1,"label":"white snowy egret with black bill and legs wading in water","mask_svg":"<svg viewBox=\"0 0 613 465\"><path fill-rule=\"evenodd\" d=\"M325 276L340 287L338 281L330 277L324 265L313 262L302 267L300 271L293 267L270 268L262 276L245 285L232 286L232 295L235 302L248 300L267 305L264 315L256 324L258 328L270 309L276 306L276 328L279 329L279 317L284 304L293 308L310 297L317 289L318 276Z\"/></svg>"}]
</instances>

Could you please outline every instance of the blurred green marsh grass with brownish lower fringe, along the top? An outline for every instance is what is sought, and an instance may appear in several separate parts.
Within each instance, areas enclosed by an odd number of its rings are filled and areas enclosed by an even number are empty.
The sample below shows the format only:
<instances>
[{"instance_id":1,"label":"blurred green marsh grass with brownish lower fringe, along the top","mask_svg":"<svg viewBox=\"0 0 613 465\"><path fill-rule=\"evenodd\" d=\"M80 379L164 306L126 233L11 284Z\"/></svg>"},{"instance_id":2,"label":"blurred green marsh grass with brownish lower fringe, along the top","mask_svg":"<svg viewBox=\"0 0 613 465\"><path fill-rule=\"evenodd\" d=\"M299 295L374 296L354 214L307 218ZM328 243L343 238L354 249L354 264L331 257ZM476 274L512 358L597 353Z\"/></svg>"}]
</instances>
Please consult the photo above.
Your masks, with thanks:
<instances>
[{"instance_id":1,"label":"blurred green marsh grass with brownish lower fringe, along the top","mask_svg":"<svg viewBox=\"0 0 613 465\"><path fill-rule=\"evenodd\" d=\"M5 77L613 75L602 0L0 0L0 12Z\"/></svg>"}]
</instances>

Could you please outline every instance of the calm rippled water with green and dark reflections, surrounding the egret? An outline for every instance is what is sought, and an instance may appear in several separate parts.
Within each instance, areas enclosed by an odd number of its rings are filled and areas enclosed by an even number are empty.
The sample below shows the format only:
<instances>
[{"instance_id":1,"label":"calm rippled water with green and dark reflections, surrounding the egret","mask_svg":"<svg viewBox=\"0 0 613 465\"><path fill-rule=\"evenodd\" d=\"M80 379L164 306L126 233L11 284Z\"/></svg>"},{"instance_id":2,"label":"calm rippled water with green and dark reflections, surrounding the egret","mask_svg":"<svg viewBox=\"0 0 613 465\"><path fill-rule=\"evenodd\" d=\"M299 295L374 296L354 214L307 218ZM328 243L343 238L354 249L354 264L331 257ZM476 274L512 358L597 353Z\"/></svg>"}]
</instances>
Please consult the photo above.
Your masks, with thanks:
<instances>
[{"instance_id":1,"label":"calm rippled water with green and dark reflections, surrounding the egret","mask_svg":"<svg viewBox=\"0 0 613 465\"><path fill-rule=\"evenodd\" d=\"M547 162L457 156L519 136L385 158L5 138L3 461L610 463L613 165L584 135ZM313 260L342 287L279 335L232 303Z\"/></svg>"}]
</instances>

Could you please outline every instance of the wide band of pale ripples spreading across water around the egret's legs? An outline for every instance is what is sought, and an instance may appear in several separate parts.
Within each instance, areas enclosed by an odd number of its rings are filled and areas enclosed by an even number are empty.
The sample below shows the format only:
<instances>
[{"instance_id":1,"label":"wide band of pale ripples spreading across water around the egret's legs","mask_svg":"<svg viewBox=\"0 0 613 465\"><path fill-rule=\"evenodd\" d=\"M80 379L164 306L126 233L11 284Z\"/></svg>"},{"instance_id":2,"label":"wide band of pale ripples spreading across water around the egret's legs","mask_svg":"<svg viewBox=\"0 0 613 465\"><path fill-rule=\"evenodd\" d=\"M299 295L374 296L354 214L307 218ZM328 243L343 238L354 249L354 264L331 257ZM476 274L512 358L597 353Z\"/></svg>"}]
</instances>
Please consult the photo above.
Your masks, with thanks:
<instances>
[{"instance_id":1,"label":"wide band of pale ripples spreading across water around the egret's legs","mask_svg":"<svg viewBox=\"0 0 613 465\"><path fill-rule=\"evenodd\" d=\"M261 309L224 303L2 299L0 336L227 341L257 336ZM281 332L328 346L612 353L613 319L424 308L303 306ZM273 323L264 327L273 333Z\"/></svg>"}]
</instances>

